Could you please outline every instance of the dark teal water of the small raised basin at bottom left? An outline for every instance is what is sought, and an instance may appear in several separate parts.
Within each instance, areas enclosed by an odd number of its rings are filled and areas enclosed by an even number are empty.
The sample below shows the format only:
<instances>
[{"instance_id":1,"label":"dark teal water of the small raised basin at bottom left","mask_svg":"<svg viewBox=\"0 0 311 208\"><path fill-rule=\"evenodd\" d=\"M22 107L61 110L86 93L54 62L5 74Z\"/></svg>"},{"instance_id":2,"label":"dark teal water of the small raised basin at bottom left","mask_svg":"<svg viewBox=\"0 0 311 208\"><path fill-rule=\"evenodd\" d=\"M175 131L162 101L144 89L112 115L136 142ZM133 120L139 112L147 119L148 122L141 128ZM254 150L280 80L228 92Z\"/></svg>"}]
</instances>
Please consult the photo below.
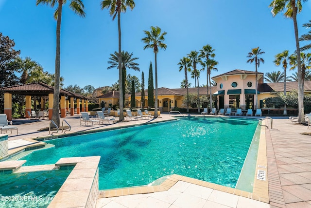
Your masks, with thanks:
<instances>
[{"instance_id":1,"label":"dark teal water of the small raised basin at bottom left","mask_svg":"<svg viewBox=\"0 0 311 208\"><path fill-rule=\"evenodd\" d=\"M0 175L1 208L46 208L71 170Z\"/></svg>"}]
</instances>

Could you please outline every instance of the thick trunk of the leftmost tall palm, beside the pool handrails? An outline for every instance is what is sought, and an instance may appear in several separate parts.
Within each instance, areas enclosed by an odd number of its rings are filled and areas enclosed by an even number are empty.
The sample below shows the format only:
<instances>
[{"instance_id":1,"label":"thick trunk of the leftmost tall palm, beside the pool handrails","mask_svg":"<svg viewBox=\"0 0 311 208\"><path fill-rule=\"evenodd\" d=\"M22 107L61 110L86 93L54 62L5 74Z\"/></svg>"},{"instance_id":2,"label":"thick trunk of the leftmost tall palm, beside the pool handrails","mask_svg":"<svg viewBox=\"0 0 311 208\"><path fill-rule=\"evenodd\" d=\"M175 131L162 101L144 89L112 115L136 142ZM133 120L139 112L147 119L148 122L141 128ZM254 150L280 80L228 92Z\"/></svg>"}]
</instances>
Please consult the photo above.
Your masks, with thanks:
<instances>
[{"instance_id":1,"label":"thick trunk of the leftmost tall palm, beside the pool handrails","mask_svg":"<svg viewBox=\"0 0 311 208\"><path fill-rule=\"evenodd\" d=\"M59 127L59 78L60 78L60 25L62 20L63 0L58 0L58 16L56 25L56 57L55 57L55 77L54 77L54 95L52 121Z\"/></svg>"}]
</instances>

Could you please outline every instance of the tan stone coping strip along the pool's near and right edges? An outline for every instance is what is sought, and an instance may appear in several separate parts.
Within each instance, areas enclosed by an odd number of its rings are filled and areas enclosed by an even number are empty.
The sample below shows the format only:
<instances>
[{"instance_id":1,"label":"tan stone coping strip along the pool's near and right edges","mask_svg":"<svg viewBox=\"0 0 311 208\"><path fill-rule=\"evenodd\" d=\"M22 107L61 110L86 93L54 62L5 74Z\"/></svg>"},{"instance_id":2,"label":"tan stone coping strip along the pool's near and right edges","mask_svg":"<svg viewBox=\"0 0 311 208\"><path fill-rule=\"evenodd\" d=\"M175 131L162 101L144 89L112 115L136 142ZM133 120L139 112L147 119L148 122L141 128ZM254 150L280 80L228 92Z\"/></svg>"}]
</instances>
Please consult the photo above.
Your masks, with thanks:
<instances>
[{"instance_id":1,"label":"tan stone coping strip along the pool's near and right edges","mask_svg":"<svg viewBox=\"0 0 311 208\"><path fill-rule=\"evenodd\" d=\"M265 121L264 121L265 122ZM266 134L266 128L261 126L260 136L259 136L259 147L258 147L258 156L256 163L256 170L254 175L254 186L253 192L243 191L240 189L234 189L231 187L225 187L219 184L214 184L206 181L202 181L195 178L190 178L187 176L173 174L160 185L156 186L138 186L138 187L128 187L121 189L107 189L100 190L98 198L108 198L108 197L117 197L125 196L132 194L145 194L145 193L154 193L158 191L167 191L173 187L178 181L188 182L191 184L199 185L202 187L224 191L226 193L243 196L249 199L254 199L260 202L269 203L269 190L268 190L268 170L267 170L267 149L266 149L266 139L270 134ZM265 171L265 180L258 179L258 170Z\"/></svg>"}]
</instances>

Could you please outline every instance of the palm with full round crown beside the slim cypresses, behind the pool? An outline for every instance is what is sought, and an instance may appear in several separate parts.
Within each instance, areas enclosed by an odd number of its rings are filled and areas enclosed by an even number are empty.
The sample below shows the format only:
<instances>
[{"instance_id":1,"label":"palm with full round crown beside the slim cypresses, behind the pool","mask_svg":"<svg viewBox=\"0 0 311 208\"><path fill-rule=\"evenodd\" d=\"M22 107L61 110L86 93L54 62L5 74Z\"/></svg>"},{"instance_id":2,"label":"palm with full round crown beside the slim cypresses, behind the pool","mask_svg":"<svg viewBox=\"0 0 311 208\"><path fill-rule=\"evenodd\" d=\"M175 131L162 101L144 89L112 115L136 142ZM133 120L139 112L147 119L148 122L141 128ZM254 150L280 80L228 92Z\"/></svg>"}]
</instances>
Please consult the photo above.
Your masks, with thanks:
<instances>
[{"instance_id":1,"label":"palm with full round crown beside the slim cypresses, behind the pool","mask_svg":"<svg viewBox=\"0 0 311 208\"><path fill-rule=\"evenodd\" d=\"M166 49L167 45L164 43L164 36L167 34L166 32L163 32L161 34L161 28L158 26L150 27L151 30L147 31L144 30L144 33L146 35L145 38L142 38L141 40L146 44L144 46L144 50L146 48L152 48L155 53L155 115L154 118L157 118L157 63L156 63L156 54L159 52L159 48Z\"/></svg>"}]
</instances>

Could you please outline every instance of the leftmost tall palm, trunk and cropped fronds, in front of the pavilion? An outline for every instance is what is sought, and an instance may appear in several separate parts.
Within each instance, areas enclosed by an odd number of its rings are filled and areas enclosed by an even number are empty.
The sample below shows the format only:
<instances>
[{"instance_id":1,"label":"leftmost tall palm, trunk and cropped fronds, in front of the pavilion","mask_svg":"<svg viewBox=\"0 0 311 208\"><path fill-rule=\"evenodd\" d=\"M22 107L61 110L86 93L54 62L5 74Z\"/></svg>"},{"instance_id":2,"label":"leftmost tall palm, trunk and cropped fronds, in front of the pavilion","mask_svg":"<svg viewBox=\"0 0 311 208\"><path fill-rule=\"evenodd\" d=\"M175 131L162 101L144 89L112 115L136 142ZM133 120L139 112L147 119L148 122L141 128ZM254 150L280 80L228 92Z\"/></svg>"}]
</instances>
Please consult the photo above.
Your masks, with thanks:
<instances>
[{"instance_id":1,"label":"leftmost tall palm, trunk and cropped fronds, in front of the pavilion","mask_svg":"<svg viewBox=\"0 0 311 208\"><path fill-rule=\"evenodd\" d=\"M52 121L57 126L60 126L59 120L59 90L60 90L60 25L62 20L62 8L66 0L36 0L36 5L47 4L52 7L58 3L58 7L54 12L54 18L57 20L56 24L56 56L55 56L55 79L54 79L54 95L53 95L53 113ZM84 5L82 0L71 0L69 3L69 8L81 17L85 17Z\"/></svg>"}]
</instances>

